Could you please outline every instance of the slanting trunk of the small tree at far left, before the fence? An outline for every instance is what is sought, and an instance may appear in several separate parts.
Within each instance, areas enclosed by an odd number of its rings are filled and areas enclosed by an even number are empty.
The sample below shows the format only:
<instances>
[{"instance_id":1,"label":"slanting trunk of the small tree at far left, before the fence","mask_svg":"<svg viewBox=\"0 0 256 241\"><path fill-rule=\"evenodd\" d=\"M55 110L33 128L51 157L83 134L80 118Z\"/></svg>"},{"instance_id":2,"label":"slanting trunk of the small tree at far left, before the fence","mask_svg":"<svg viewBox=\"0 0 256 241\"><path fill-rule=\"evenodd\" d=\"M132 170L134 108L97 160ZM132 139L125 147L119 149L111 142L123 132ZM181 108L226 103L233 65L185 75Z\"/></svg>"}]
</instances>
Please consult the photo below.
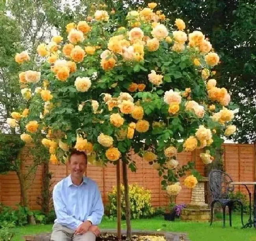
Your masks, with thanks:
<instances>
[{"instance_id":1,"label":"slanting trunk of the small tree at far left, before the fence","mask_svg":"<svg viewBox=\"0 0 256 241\"><path fill-rule=\"evenodd\" d=\"M17 158L20 160L20 151L17 155ZM15 171L17 173L17 176L20 182L20 197L21 197L20 204L21 206L24 206L29 209L28 194L26 189L26 179L24 178L24 174L22 173L21 166L17 165ZM28 215L28 223L32 225L36 224L33 215Z\"/></svg>"}]
</instances>

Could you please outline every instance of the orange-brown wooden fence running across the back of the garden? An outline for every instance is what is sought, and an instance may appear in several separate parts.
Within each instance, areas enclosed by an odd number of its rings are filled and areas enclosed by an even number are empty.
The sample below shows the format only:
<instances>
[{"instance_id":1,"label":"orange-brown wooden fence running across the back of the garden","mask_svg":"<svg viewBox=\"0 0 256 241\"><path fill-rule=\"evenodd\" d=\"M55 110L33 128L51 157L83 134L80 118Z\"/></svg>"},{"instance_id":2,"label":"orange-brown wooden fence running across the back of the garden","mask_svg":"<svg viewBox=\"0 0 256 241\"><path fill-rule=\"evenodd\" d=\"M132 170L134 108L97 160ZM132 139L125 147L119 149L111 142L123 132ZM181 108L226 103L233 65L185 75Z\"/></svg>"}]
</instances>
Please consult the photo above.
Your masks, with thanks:
<instances>
[{"instance_id":1,"label":"orange-brown wooden fence running across the back of the garden","mask_svg":"<svg viewBox=\"0 0 256 241\"><path fill-rule=\"evenodd\" d=\"M255 180L255 146L250 144L224 144L223 160L226 172L230 174L234 181L254 181ZM195 161L196 169L204 175L204 164L200 160L200 150L195 152L183 152L177 155L180 165L187 164L188 161ZM22 160L26 160L22 169L26 171L32 163L32 157L28 150L22 150ZM151 202L154 207L166 206L168 199L165 190L161 189L161 178L158 171L154 170L143 158L132 153L132 159L136 161L137 171L133 173L128 169L129 184L136 183L139 186L151 191ZM52 172L52 188L61 179L67 177L70 171L66 165L50 165ZM37 197L41 196L43 170L39 166L34 177L31 180L28 198L32 209L39 209ZM108 164L106 167L95 167L90 164L87 166L86 174L95 180L102 193L104 203L108 202L108 192L116 185L116 166ZM122 175L122 172L121 172ZM183 185L184 178L181 178L182 191L176 198L176 203L189 203L191 198L191 190ZM121 177L122 180L122 177ZM252 187L250 187L252 190ZM246 193L242 186L236 186L236 190ZM4 205L15 208L20 202L20 186L19 180L15 172L9 172L6 175L0 175L0 202Z\"/></svg>"}]
</instances>

